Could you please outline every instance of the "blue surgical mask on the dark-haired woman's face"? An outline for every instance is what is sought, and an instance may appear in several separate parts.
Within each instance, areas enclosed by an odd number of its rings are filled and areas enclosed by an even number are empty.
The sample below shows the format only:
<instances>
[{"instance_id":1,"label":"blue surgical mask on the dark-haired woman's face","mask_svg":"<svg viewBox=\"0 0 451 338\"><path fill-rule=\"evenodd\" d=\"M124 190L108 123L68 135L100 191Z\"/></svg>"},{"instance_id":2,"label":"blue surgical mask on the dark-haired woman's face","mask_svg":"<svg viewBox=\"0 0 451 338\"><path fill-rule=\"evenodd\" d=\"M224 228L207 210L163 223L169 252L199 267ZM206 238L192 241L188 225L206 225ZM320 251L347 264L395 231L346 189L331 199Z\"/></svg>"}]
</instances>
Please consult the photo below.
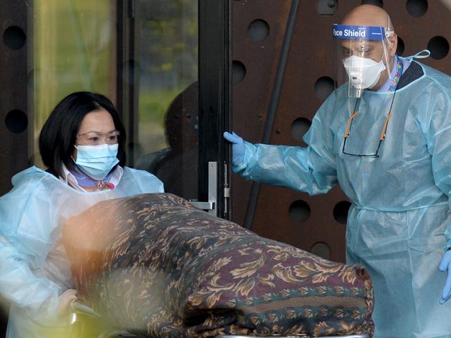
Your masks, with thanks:
<instances>
[{"instance_id":1,"label":"blue surgical mask on the dark-haired woman's face","mask_svg":"<svg viewBox=\"0 0 451 338\"><path fill-rule=\"evenodd\" d=\"M86 175L101 180L119 163L117 144L74 145L77 149L76 165Z\"/></svg>"}]
</instances>

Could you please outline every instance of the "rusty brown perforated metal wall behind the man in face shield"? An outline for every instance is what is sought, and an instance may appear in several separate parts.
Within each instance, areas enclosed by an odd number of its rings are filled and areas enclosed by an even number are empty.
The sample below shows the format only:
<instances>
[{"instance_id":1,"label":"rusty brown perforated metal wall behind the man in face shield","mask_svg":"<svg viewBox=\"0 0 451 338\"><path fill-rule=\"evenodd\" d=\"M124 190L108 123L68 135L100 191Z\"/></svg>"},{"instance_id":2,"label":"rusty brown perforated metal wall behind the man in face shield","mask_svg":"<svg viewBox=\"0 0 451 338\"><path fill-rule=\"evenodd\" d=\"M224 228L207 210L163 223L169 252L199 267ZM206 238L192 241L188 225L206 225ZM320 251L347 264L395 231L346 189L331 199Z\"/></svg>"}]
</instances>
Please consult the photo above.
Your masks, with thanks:
<instances>
[{"instance_id":1,"label":"rusty brown perforated metal wall behind the man in face shield","mask_svg":"<svg viewBox=\"0 0 451 338\"><path fill-rule=\"evenodd\" d=\"M361 3L389 12L400 55L429 47L432 57L421 62L451 74L451 12L444 2L234 0L233 129L254 143L305 146L300 137L333 89L332 24ZM233 177L235 222L341 262L349 206L338 186L310 197Z\"/></svg>"}]
</instances>

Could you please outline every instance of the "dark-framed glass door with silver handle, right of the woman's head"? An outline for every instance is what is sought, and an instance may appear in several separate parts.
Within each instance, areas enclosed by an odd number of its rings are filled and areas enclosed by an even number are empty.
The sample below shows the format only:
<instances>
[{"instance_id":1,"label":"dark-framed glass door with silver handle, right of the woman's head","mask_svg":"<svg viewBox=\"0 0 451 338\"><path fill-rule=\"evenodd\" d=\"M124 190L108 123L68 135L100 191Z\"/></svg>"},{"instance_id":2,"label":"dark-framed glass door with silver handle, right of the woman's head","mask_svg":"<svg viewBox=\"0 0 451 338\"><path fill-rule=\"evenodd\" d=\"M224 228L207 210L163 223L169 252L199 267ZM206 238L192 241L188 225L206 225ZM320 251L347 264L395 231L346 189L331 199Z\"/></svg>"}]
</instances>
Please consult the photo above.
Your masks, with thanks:
<instances>
[{"instance_id":1,"label":"dark-framed glass door with silver handle, right of the woman's head","mask_svg":"<svg viewBox=\"0 0 451 338\"><path fill-rule=\"evenodd\" d=\"M129 166L229 217L229 1L118 1L117 100Z\"/></svg>"}]
</instances>

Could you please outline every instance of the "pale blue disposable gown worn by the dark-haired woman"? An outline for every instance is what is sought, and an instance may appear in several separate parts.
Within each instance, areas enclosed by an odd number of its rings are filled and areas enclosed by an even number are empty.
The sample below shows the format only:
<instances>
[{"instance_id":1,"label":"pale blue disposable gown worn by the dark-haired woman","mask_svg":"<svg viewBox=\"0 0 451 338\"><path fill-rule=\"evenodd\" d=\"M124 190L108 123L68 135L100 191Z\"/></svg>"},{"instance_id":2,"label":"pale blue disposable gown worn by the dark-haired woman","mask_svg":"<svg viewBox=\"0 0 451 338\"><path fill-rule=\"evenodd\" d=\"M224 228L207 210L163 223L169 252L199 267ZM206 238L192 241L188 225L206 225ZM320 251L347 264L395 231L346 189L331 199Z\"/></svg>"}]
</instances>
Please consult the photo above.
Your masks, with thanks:
<instances>
[{"instance_id":1,"label":"pale blue disposable gown worn by the dark-haired woman","mask_svg":"<svg viewBox=\"0 0 451 338\"><path fill-rule=\"evenodd\" d=\"M7 337L67 337L58 297L71 283L60 225L104 199L163 192L148 172L124 168L114 190L80 192L36 167L0 198L0 292L11 302ZM48 330L51 328L51 330Z\"/></svg>"}]
</instances>

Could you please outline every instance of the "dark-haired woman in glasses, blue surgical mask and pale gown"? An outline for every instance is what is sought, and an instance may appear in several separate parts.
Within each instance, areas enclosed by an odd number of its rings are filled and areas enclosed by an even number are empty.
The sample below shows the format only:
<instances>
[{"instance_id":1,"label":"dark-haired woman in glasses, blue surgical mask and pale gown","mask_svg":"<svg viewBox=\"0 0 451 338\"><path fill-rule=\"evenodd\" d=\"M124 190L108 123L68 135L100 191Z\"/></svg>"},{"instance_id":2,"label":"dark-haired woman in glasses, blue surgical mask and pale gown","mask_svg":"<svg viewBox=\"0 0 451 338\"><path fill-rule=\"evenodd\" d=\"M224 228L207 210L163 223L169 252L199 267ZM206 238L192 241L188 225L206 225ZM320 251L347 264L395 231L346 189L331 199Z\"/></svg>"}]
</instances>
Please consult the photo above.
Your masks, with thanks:
<instances>
[{"instance_id":1,"label":"dark-haired woman in glasses, blue surgical mask and pale gown","mask_svg":"<svg viewBox=\"0 0 451 338\"><path fill-rule=\"evenodd\" d=\"M0 197L0 293L11 303L7 337L65 337L73 290L61 242L69 217L104 199L163 192L148 172L124 167L125 130L105 96L64 98L42 127L47 170L31 167Z\"/></svg>"}]
</instances>

